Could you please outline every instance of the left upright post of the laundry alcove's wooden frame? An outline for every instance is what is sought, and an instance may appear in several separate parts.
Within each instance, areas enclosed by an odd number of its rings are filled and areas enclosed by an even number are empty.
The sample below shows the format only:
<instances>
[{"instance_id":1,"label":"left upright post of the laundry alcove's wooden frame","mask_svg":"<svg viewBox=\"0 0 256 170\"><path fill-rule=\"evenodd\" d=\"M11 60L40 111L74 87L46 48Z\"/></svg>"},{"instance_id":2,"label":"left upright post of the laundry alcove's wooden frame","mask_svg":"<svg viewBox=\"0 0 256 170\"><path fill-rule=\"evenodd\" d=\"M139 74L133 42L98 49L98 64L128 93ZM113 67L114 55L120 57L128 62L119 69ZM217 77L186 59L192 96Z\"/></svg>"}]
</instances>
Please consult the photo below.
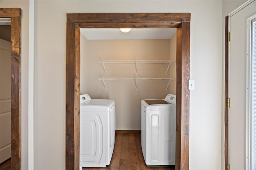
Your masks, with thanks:
<instances>
[{"instance_id":1,"label":"left upright post of the laundry alcove's wooden frame","mask_svg":"<svg viewBox=\"0 0 256 170\"><path fill-rule=\"evenodd\" d=\"M80 142L80 27L67 22L66 169L79 169Z\"/></svg>"}]
</instances>

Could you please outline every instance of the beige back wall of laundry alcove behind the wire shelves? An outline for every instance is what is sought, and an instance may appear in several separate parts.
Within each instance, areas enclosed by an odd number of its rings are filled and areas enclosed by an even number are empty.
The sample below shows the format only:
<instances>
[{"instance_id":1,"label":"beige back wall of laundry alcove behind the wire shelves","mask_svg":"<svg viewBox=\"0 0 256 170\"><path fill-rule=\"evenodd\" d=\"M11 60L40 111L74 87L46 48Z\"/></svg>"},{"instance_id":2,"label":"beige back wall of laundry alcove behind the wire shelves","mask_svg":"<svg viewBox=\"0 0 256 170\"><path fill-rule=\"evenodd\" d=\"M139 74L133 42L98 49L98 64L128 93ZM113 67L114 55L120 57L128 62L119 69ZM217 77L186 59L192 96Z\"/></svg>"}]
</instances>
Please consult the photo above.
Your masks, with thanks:
<instances>
[{"instance_id":1,"label":"beige back wall of laundry alcove behind the wire shelves","mask_svg":"<svg viewBox=\"0 0 256 170\"><path fill-rule=\"evenodd\" d=\"M112 99L116 103L116 129L140 130L140 101L150 98L165 98L168 81L139 80L138 90L134 80L105 80L106 88L99 77L118 78L170 78L166 75L168 64L105 64L107 75L99 60L170 60L170 40L89 40L81 49L81 94L94 99ZM84 51L84 50L83 50ZM86 58L86 59L85 59ZM84 63L87 60L87 63ZM176 70L175 70L176 71ZM87 90L86 90L87 88Z\"/></svg>"}]
</instances>

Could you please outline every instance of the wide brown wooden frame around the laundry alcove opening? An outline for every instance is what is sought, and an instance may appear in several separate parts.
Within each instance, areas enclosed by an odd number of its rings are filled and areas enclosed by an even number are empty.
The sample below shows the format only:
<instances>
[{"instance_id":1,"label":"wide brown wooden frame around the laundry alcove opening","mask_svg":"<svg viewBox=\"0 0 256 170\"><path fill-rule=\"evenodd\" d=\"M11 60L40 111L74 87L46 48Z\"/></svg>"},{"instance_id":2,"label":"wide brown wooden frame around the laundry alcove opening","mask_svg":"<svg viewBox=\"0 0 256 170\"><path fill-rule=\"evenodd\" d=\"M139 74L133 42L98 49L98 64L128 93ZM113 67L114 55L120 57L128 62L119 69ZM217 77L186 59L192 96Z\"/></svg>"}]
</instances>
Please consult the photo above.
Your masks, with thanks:
<instances>
[{"instance_id":1,"label":"wide brown wooden frame around the laundry alcove opening","mask_svg":"<svg viewBox=\"0 0 256 170\"><path fill-rule=\"evenodd\" d=\"M66 170L79 169L80 28L177 28L176 170L189 169L190 14L67 14Z\"/></svg>"}]
</instances>

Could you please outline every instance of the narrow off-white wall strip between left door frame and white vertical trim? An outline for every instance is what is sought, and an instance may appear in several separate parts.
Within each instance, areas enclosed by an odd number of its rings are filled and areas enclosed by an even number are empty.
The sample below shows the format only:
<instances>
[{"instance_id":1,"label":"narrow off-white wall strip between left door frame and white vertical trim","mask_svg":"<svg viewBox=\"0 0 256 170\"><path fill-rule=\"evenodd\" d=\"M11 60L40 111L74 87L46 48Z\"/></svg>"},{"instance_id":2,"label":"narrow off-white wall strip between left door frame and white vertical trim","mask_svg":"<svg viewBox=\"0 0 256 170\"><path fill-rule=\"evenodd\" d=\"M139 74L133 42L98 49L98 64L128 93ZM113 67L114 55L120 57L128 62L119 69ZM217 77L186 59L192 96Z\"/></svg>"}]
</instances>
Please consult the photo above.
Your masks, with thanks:
<instances>
[{"instance_id":1,"label":"narrow off-white wall strip between left door frame and white vertical trim","mask_svg":"<svg viewBox=\"0 0 256 170\"><path fill-rule=\"evenodd\" d=\"M28 0L1 0L1 8L21 8L21 168L28 169Z\"/></svg>"}]
</instances>

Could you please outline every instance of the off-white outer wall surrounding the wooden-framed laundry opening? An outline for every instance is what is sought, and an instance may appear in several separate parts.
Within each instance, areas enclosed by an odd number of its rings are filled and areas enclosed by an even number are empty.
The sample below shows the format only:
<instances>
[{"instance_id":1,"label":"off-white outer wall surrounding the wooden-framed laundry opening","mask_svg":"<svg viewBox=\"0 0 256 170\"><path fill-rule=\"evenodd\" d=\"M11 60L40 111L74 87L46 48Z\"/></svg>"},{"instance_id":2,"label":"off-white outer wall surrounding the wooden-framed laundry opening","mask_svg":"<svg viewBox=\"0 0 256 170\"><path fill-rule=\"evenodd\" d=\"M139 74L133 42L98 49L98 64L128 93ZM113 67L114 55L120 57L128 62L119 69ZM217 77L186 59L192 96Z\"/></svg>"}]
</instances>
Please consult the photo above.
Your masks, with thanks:
<instances>
[{"instance_id":1,"label":"off-white outer wall surrounding the wooden-framed laundry opening","mask_svg":"<svg viewBox=\"0 0 256 170\"><path fill-rule=\"evenodd\" d=\"M2 1L22 16L22 126L26 126L28 1ZM35 2L35 164L65 169L66 13L191 13L191 170L221 169L222 1L36 1ZM22 127L22 135L26 134ZM22 136L23 137L23 136ZM26 164L22 141L22 166ZM23 169L27 169L26 167Z\"/></svg>"}]
</instances>

